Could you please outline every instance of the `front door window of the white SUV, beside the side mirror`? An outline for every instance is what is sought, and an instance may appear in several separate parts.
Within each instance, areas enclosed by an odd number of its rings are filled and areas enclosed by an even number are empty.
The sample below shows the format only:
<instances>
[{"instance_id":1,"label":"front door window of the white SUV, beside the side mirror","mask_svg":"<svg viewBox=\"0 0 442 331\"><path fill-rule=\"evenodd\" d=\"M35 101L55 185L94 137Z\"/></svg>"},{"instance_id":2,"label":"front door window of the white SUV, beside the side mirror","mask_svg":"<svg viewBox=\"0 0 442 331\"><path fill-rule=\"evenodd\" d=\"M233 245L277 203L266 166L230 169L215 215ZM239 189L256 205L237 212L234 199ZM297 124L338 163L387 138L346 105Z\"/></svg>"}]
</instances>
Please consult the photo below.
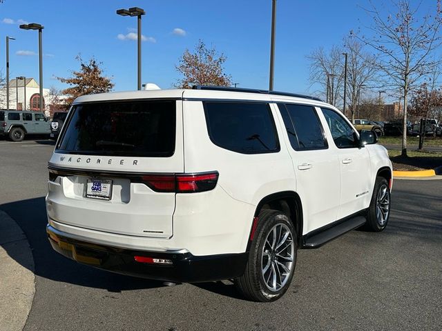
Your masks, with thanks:
<instances>
[{"instance_id":1,"label":"front door window of the white SUV, beside the side mirror","mask_svg":"<svg viewBox=\"0 0 442 331\"><path fill-rule=\"evenodd\" d=\"M327 125L332 132L332 137L337 148L357 148L358 139L353 128L334 110L321 108Z\"/></svg>"}]
</instances>

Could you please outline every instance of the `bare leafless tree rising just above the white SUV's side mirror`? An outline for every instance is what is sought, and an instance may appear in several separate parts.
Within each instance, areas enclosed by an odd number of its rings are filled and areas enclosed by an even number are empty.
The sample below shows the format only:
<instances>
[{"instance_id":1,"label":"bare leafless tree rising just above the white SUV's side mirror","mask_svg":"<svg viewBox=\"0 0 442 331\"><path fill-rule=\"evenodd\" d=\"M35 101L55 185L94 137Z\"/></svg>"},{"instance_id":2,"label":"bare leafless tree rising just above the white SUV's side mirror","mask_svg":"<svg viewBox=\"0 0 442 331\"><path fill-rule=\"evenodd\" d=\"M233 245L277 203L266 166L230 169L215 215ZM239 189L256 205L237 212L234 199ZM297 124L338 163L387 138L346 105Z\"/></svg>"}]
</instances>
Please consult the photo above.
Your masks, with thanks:
<instances>
[{"instance_id":1,"label":"bare leafless tree rising just above the white SUV's side mirror","mask_svg":"<svg viewBox=\"0 0 442 331\"><path fill-rule=\"evenodd\" d=\"M354 121L362 88L378 83L378 68L374 66L376 57L363 52L363 44L352 36L344 39L347 52L347 96L350 101L350 117Z\"/></svg>"}]
</instances>

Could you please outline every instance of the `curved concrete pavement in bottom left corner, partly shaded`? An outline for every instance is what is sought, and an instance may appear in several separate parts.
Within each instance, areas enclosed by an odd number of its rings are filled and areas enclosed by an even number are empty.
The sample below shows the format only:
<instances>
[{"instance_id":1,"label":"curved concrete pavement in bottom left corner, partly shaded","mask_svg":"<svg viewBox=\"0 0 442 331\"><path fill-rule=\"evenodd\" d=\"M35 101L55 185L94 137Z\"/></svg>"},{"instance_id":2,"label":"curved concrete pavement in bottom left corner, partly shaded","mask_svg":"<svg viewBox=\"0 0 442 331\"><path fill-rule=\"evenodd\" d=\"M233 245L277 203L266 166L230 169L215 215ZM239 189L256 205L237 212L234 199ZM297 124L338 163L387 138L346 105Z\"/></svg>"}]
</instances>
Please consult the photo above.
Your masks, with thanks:
<instances>
[{"instance_id":1,"label":"curved concrete pavement in bottom left corner, partly shaded","mask_svg":"<svg viewBox=\"0 0 442 331\"><path fill-rule=\"evenodd\" d=\"M1 330L23 330L35 295L34 270L28 239L19 225L0 210Z\"/></svg>"}]
</instances>

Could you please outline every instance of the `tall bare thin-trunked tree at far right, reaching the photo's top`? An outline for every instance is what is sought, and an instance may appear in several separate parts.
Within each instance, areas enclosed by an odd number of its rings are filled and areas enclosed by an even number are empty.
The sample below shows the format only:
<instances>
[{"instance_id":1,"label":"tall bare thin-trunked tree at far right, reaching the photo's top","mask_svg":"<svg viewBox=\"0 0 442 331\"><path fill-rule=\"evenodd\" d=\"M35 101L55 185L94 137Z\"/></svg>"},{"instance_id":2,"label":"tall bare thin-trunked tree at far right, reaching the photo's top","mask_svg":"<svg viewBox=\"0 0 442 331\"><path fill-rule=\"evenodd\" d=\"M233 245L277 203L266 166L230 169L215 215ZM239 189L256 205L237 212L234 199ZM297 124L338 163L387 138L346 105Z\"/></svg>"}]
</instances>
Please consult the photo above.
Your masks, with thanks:
<instances>
[{"instance_id":1,"label":"tall bare thin-trunked tree at far right, reaching the photo's top","mask_svg":"<svg viewBox=\"0 0 442 331\"><path fill-rule=\"evenodd\" d=\"M439 34L442 15L441 0L437 0L434 14L418 17L419 5L410 6L410 0L394 0L396 13L387 14L370 1L365 9L372 21L370 37L360 37L379 54L379 68L383 70L394 88L403 93L402 156L407 156L407 97L419 83L428 68L434 65L432 51L441 43ZM421 4L421 3L420 3Z\"/></svg>"}]
</instances>

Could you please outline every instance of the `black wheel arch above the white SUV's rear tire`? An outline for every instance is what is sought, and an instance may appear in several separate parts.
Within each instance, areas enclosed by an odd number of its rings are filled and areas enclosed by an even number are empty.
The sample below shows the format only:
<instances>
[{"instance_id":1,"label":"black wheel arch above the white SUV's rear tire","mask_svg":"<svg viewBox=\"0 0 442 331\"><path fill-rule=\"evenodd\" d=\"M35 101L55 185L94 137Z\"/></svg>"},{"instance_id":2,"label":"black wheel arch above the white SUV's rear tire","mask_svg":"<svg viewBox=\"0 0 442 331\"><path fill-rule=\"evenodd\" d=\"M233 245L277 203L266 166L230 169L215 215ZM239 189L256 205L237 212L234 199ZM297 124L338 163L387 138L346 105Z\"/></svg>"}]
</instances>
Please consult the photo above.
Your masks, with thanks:
<instances>
[{"instance_id":1,"label":"black wheel arch above the white SUV's rear tire","mask_svg":"<svg viewBox=\"0 0 442 331\"><path fill-rule=\"evenodd\" d=\"M255 214L253 214L253 222L249 233L249 239L252 238L252 234L256 228L256 221L258 221L258 215L262 209L280 210L289 216L291 221L294 223L299 247L302 239L303 214L302 203L298 193L294 191L282 191L263 197L256 206ZM249 251L250 245L251 240L249 240L249 243L247 244L247 251Z\"/></svg>"}]
</instances>

